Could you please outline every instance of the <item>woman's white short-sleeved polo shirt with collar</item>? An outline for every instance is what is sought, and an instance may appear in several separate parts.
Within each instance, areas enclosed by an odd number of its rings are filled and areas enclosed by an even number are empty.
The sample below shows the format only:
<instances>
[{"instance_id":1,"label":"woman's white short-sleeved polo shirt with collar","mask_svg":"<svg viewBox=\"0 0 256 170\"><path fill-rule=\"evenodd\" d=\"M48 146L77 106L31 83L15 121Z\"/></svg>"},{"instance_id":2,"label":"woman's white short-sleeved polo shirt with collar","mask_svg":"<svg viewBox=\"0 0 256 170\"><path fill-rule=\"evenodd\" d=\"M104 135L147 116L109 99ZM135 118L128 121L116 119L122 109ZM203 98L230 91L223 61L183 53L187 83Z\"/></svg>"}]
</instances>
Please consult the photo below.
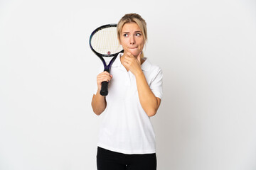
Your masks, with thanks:
<instances>
[{"instance_id":1,"label":"woman's white short-sleeved polo shirt with collar","mask_svg":"<svg viewBox=\"0 0 256 170\"><path fill-rule=\"evenodd\" d=\"M103 113L105 118L102 120L98 146L124 154L155 153L153 126L139 102L134 74L127 72L121 63L122 55L117 56L111 67L113 77L106 96L107 108ZM142 71L151 91L156 97L162 98L163 74L160 67L146 59Z\"/></svg>"}]
</instances>

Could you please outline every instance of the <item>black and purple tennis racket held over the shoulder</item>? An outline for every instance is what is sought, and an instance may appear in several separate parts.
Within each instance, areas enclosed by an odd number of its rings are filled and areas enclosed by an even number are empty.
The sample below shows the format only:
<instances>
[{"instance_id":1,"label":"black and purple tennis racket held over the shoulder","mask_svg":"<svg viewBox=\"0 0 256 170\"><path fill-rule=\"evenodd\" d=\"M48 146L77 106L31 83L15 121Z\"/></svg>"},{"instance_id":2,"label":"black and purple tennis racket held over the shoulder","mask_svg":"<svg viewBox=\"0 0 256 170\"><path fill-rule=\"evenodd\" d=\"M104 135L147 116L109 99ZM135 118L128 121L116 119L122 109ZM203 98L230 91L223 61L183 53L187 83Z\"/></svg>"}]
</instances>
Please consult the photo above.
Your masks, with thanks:
<instances>
[{"instance_id":1,"label":"black and purple tennis racket held over the shoulder","mask_svg":"<svg viewBox=\"0 0 256 170\"><path fill-rule=\"evenodd\" d=\"M110 72L110 68L119 52L124 52L117 39L117 24L107 24L94 30L90 35L90 48L102 60L104 71ZM106 64L103 57L112 57L112 60L110 60L109 64ZM102 82L100 94L107 96L107 81Z\"/></svg>"}]
</instances>

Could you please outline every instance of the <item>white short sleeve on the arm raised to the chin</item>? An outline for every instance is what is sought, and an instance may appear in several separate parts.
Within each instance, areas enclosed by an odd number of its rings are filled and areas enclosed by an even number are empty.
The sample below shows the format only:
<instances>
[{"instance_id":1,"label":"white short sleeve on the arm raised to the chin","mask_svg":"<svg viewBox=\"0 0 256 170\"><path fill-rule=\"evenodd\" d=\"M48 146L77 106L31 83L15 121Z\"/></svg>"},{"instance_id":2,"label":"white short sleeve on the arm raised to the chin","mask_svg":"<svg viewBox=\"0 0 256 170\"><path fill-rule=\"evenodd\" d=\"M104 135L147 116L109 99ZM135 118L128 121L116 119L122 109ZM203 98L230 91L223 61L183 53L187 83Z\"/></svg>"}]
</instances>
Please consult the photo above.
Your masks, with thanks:
<instances>
[{"instance_id":1,"label":"white short sleeve on the arm raised to the chin","mask_svg":"<svg viewBox=\"0 0 256 170\"><path fill-rule=\"evenodd\" d=\"M162 99L163 97L163 72L160 67L156 70L156 75L152 79L150 84L150 89L153 92L154 96Z\"/></svg>"}]
</instances>

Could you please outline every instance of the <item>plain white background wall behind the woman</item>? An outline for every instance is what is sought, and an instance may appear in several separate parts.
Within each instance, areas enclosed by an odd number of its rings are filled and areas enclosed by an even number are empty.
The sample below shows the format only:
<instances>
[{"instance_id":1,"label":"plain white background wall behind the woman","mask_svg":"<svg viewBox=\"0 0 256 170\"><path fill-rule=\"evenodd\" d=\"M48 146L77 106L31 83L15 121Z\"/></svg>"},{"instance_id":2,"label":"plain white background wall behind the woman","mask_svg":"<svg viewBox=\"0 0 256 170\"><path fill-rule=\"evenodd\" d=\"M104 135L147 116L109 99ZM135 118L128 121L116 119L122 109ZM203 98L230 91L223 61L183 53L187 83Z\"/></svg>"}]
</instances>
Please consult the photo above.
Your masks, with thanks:
<instances>
[{"instance_id":1,"label":"plain white background wall behind the woman","mask_svg":"<svg viewBox=\"0 0 256 170\"><path fill-rule=\"evenodd\" d=\"M256 169L256 1L0 0L0 169L96 169L92 30L147 22L159 170Z\"/></svg>"}]
</instances>

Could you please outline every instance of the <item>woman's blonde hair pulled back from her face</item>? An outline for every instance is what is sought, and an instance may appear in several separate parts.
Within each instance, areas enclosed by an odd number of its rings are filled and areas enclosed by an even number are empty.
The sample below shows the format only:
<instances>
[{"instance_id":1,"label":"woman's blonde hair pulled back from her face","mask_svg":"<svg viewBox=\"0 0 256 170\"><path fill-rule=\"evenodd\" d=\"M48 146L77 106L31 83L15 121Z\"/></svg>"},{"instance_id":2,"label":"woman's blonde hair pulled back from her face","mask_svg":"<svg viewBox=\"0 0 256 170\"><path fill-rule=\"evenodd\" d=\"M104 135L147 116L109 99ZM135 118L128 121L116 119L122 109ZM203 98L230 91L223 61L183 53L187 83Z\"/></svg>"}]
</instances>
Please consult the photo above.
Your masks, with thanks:
<instances>
[{"instance_id":1,"label":"woman's blonde hair pulled back from her face","mask_svg":"<svg viewBox=\"0 0 256 170\"><path fill-rule=\"evenodd\" d=\"M147 40L147 32L146 32L146 21L137 13L127 13L125 14L120 21L117 23L117 38L120 42L122 28L125 23L137 23L139 29L142 30L142 35L144 38L144 42Z\"/></svg>"}]
</instances>

